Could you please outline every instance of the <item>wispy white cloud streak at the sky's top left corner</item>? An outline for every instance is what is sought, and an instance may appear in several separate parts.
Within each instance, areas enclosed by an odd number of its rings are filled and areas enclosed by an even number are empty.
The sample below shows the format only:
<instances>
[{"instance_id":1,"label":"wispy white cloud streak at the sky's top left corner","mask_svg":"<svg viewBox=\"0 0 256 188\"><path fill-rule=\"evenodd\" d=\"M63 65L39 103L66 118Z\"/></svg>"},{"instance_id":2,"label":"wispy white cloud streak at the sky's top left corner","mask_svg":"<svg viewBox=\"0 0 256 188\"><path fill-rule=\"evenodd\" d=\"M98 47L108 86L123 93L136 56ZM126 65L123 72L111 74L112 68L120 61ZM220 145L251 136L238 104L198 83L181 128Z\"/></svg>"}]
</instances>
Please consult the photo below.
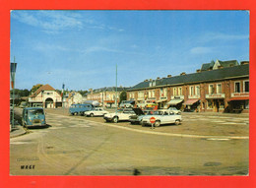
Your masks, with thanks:
<instances>
[{"instance_id":1,"label":"wispy white cloud streak at the sky's top left corner","mask_svg":"<svg viewBox=\"0 0 256 188\"><path fill-rule=\"evenodd\" d=\"M124 31L123 29L105 26L81 12L74 11L12 11L12 18L21 23L37 27L49 34L65 30L82 30L84 28L104 31Z\"/></svg>"}]
</instances>

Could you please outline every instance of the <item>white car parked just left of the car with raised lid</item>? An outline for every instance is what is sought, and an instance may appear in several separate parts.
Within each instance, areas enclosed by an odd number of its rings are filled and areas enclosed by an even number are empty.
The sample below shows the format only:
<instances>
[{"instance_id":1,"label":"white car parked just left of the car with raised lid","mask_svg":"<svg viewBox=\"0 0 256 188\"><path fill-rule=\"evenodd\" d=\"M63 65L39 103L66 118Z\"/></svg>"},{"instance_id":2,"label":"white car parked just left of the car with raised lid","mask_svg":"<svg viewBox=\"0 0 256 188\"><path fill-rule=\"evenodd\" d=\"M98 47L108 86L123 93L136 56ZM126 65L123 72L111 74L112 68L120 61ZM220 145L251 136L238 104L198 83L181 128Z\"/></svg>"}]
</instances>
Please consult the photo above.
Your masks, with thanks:
<instances>
[{"instance_id":1,"label":"white car parked just left of the car with raised lid","mask_svg":"<svg viewBox=\"0 0 256 188\"><path fill-rule=\"evenodd\" d=\"M117 123L119 121L128 121L129 116L133 114L135 113L131 108L124 108L117 110L117 112L104 114L103 118L106 122L112 121L114 123Z\"/></svg>"}]
</instances>

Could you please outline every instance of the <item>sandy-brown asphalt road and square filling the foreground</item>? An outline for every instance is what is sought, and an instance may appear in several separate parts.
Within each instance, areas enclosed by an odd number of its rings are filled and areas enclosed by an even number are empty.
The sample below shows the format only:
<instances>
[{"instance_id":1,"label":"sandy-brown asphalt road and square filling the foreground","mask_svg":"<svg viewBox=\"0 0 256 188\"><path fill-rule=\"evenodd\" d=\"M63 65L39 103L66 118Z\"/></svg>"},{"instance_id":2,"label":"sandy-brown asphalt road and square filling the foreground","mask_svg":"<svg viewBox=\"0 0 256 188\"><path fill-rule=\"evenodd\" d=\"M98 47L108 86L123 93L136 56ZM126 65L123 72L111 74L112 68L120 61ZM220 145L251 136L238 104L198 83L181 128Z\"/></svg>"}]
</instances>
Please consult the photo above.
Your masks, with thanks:
<instances>
[{"instance_id":1,"label":"sandy-brown asphalt road and square filling the foreground","mask_svg":"<svg viewBox=\"0 0 256 188\"><path fill-rule=\"evenodd\" d=\"M183 119L184 127L194 123L191 116ZM46 121L48 127L30 129L29 134L10 140L10 174L247 175L249 172L246 123L236 123L245 127L245 131L240 128L237 134L235 130L219 131L222 137L217 133L211 137L209 132L207 136L200 132L197 137L195 130L192 136L188 130L185 136L180 132L172 134L175 126L151 130L123 126L128 123L104 123L102 117L68 116L51 111L47 112ZM225 137L225 133L231 135Z\"/></svg>"}]
</instances>

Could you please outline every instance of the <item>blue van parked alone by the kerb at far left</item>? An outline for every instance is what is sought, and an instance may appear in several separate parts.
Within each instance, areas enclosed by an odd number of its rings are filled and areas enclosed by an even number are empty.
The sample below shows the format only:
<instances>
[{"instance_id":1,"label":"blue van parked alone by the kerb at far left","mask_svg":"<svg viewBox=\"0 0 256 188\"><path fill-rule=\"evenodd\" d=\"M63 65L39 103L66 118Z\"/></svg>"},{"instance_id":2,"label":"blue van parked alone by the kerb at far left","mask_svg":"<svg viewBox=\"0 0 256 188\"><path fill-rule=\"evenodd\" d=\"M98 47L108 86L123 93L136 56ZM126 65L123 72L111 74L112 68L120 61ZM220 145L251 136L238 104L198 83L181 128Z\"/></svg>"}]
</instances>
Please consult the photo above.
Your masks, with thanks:
<instances>
[{"instance_id":1,"label":"blue van parked alone by the kerb at far left","mask_svg":"<svg viewBox=\"0 0 256 188\"><path fill-rule=\"evenodd\" d=\"M26 107L23 109L22 124L24 127L45 126L45 114L42 107Z\"/></svg>"}]
</instances>

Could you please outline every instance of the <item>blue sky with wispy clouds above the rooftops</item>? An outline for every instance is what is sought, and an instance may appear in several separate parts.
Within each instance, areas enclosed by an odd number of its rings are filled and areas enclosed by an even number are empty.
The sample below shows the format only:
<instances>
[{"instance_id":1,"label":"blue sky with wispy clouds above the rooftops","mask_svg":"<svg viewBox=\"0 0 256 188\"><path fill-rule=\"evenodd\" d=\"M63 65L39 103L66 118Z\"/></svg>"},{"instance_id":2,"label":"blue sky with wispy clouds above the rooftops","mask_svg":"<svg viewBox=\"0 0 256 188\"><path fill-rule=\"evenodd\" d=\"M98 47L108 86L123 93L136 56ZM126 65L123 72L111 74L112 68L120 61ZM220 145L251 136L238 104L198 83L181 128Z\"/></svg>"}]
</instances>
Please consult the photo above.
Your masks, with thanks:
<instances>
[{"instance_id":1,"label":"blue sky with wispy clouds above the rooftops","mask_svg":"<svg viewBox=\"0 0 256 188\"><path fill-rule=\"evenodd\" d=\"M12 11L16 88L133 87L194 73L212 60L249 60L247 11Z\"/></svg>"}]
</instances>

